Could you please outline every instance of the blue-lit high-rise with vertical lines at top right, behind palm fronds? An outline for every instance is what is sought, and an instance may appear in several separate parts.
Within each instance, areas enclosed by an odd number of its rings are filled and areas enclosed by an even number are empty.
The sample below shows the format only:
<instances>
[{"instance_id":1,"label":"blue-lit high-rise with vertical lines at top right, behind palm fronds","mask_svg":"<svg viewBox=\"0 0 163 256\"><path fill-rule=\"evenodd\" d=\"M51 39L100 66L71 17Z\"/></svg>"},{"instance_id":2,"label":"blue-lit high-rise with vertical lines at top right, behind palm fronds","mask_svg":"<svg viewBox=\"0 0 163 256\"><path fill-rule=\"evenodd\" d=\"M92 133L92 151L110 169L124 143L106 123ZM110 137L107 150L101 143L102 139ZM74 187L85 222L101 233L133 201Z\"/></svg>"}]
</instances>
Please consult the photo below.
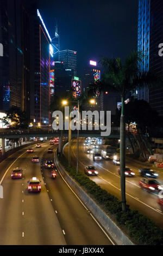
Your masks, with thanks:
<instances>
[{"instance_id":1,"label":"blue-lit high-rise with vertical lines at top right, behind palm fronds","mask_svg":"<svg viewBox=\"0 0 163 256\"><path fill-rule=\"evenodd\" d=\"M161 0L139 0L138 50L146 53L140 64L142 71L153 70L163 75L163 58L159 56L159 44L163 43L163 2ZM163 85L160 89L147 87L139 90L138 99L145 99L152 108L163 115Z\"/></svg>"}]
</instances>

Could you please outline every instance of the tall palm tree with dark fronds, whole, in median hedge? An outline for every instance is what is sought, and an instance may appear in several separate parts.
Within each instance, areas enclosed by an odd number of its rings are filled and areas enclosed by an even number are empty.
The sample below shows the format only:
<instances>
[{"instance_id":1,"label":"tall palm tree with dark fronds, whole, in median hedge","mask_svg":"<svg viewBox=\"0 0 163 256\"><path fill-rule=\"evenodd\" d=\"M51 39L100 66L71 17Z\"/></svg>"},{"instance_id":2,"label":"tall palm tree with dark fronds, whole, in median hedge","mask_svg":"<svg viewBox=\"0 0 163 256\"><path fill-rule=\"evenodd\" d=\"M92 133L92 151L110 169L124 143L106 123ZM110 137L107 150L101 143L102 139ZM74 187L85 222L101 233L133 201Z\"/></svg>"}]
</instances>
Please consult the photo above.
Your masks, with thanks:
<instances>
[{"instance_id":1,"label":"tall palm tree with dark fronds, whole, in median hedge","mask_svg":"<svg viewBox=\"0 0 163 256\"><path fill-rule=\"evenodd\" d=\"M121 164L121 199L122 210L126 211L126 123L124 118L124 100L126 93L144 86L153 87L160 85L161 80L151 70L141 72L139 64L145 58L141 51L133 51L122 63L120 58L103 58L101 61L104 69L103 78L91 86L91 91L114 91L121 95L120 118L120 164Z\"/></svg>"}]
</instances>

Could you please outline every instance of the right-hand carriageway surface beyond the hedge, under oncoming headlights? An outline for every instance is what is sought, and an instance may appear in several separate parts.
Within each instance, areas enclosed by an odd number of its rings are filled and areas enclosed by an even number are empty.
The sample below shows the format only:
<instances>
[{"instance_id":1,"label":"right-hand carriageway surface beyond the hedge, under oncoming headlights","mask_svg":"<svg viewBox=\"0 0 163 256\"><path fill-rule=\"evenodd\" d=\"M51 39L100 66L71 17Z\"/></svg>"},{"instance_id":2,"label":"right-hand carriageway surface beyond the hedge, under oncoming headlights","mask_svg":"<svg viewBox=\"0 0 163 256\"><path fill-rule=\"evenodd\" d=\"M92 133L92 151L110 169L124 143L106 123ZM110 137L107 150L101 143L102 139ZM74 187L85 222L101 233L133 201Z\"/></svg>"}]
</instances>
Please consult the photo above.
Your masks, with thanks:
<instances>
[{"instance_id":1,"label":"right-hand carriageway surface beyond the hedge, under oncoming headlights","mask_svg":"<svg viewBox=\"0 0 163 256\"><path fill-rule=\"evenodd\" d=\"M96 177L90 177L93 181L98 183L102 188L108 190L111 194L116 195L121 200L121 187L120 187L120 175L118 175L119 166L115 166L112 161L102 160L102 162L93 162L92 154L86 154L86 148L83 146L84 139L80 139L79 144L79 169L84 170L85 165L93 164L99 171L99 175ZM72 142L72 164L76 166L77 156L77 140ZM67 154L67 147L65 148ZM132 168L132 163L130 163ZM137 166L137 169L140 166ZM140 175L135 168L134 172L136 177L126 178L126 192L127 192L127 204L131 209L136 209L147 215L153 221L163 227L163 213L157 203L158 195L146 192L139 187Z\"/></svg>"}]
</instances>

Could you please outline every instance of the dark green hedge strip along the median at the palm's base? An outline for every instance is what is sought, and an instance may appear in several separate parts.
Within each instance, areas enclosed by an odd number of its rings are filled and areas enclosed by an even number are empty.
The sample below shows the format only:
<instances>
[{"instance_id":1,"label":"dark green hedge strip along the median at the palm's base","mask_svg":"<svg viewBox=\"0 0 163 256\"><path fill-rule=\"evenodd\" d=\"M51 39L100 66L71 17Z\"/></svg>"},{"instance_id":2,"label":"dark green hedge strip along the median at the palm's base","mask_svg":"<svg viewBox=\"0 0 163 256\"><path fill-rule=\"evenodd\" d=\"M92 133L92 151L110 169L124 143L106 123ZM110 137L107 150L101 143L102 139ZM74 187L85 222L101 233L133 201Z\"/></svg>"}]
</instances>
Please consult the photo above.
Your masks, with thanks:
<instances>
[{"instance_id":1,"label":"dark green hedge strip along the median at the palm's base","mask_svg":"<svg viewBox=\"0 0 163 256\"><path fill-rule=\"evenodd\" d=\"M142 215L139 211L130 210L129 205L127 205L127 211L123 212L121 201L118 198L102 189L83 172L76 173L76 168L68 166L65 156L61 156L59 160L70 176L91 194L92 199L102 205L106 212L114 215L117 223L127 228L129 236L134 237L137 243L163 245L163 230L156 226L151 219Z\"/></svg>"}]
</instances>

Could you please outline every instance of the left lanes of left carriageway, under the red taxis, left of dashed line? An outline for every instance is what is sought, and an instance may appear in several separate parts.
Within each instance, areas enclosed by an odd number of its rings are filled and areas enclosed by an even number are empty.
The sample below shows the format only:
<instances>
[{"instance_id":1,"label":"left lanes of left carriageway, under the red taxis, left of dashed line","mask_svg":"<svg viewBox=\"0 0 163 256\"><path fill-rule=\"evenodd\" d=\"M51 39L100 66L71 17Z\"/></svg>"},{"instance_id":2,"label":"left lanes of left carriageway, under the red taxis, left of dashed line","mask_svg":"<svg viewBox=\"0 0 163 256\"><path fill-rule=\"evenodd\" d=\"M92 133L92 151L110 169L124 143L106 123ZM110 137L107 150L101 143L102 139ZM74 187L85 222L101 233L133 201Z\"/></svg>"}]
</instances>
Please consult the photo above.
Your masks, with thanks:
<instances>
[{"instance_id":1,"label":"left lanes of left carriageway, under the red taxis, left of dashed line","mask_svg":"<svg viewBox=\"0 0 163 256\"><path fill-rule=\"evenodd\" d=\"M66 245L41 176L40 163L31 162L34 155L42 157L48 145L46 143L41 148L34 148L34 153L26 153L26 149L23 149L22 155L18 151L11 157L16 161L9 166L2 181L4 198L0 199L1 245ZM4 163L0 166L4 168ZM23 178L11 180L11 170L17 166L23 169ZM40 194L28 194L27 181L33 176L41 180Z\"/></svg>"}]
</instances>

